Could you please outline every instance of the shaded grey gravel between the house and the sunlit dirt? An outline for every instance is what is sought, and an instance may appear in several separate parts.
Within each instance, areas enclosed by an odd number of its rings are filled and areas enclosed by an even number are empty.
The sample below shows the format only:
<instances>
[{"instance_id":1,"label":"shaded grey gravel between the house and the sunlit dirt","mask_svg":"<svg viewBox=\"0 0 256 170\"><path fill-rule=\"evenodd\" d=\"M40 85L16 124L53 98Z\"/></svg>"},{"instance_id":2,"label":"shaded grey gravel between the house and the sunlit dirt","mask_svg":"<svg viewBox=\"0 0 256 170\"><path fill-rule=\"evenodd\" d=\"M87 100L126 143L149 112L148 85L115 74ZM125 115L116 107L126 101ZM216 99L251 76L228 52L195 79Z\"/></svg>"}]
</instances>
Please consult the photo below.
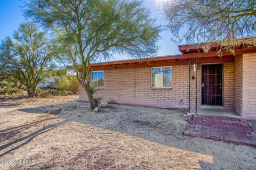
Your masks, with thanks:
<instances>
[{"instance_id":1,"label":"shaded grey gravel between the house and the sunlit dirt","mask_svg":"<svg viewBox=\"0 0 256 170\"><path fill-rule=\"evenodd\" d=\"M182 116L186 111L182 109L111 105L110 108L103 108L101 112L94 113L91 112L89 104L77 100L63 104L57 103L20 108L18 111L39 115L48 113L47 115L92 125L92 127L114 130L147 141L185 149L185 154L186 151L190 151L212 156L213 164L199 161L202 169L256 169L256 148L182 135L187 125L187 116ZM256 122L251 122L255 131ZM83 129L84 131L86 129ZM99 137L97 136L97 138ZM104 136L100 138L104 138ZM140 150L140 148L138 149ZM170 160L170 158L168 159ZM175 162L177 161L179 160L175 160Z\"/></svg>"}]
</instances>

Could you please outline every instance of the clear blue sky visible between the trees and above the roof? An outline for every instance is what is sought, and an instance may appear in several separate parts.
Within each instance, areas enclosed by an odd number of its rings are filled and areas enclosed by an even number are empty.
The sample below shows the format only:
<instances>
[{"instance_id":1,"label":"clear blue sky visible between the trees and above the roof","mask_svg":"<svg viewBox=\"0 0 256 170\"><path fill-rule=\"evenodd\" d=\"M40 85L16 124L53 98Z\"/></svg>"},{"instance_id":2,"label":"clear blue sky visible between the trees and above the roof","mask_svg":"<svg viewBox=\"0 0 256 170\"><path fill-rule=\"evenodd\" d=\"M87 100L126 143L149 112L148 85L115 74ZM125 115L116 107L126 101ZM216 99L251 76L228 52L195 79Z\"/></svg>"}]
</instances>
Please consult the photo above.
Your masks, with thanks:
<instances>
[{"instance_id":1,"label":"clear blue sky visible between the trees and above the roof","mask_svg":"<svg viewBox=\"0 0 256 170\"><path fill-rule=\"evenodd\" d=\"M145 7L151 11L151 17L155 18L157 24L164 25L165 21L162 18L162 12L157 10L163 0L144 0ZM15 29L19 27L19 24L25 22L25 18L21 12L21 2L19 0L0 0L0 39L4 39L6 36L12 36ZM178 45L174 44L171 39L170 31L161 32L161 40L159 41L160 49L158 56L180 54ZM115 55L115 60L124 60L127 57Z\"/></svg>"}]
</instances>

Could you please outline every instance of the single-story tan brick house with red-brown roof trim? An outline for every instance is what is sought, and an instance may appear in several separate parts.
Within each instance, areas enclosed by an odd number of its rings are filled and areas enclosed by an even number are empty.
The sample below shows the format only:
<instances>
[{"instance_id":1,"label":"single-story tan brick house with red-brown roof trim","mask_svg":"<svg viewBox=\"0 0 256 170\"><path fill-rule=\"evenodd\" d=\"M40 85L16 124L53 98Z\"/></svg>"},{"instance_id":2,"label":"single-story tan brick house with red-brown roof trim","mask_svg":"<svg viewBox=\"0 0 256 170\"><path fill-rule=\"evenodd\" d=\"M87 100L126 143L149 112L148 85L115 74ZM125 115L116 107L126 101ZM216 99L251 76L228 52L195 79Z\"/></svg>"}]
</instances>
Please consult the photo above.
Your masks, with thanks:
<instances>
[{"instance_id":1,"label":"single-story tan brick house with red-brown roof trim","mask_svg":"<svg viewBox=\"0 0 256 170\"><path fill-rule=\"evenodd\" d=\"M165 108L204 106L234 110L256 119L256 47L241 46L235 56L211 45L179 45L181 55L92 64L95 97L108 103ZM79 100L87 101L79 87Z\"/></svg>"}]
</instances>

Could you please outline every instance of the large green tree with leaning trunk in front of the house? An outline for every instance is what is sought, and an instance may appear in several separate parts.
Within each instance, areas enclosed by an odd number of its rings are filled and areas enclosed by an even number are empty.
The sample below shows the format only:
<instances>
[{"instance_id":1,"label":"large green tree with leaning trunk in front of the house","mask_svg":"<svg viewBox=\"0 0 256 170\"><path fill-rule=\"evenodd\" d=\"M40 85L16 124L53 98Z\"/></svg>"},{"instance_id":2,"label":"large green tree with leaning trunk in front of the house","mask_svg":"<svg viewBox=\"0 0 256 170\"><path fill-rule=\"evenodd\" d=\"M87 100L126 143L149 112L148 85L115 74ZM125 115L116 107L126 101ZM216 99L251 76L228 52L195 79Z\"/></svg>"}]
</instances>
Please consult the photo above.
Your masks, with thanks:
<instances>
[{"instance_id":1,"label":"large green tree with leaning trunk in front of the house","mask_svg":"<svg viewBox=\"0 0 256 170\"><path fill-rule=\"evenodd\" d=\"M75 44L72 47L77 47L79 60L73 61L81 61L79 83L92 108L97 107L90 84L92 61L106 60L113 53L149 56L158 48L159 28L141 1L31 0L25 9L25 16L61 30L63 40Z\"/></svg>"}]
</instances>

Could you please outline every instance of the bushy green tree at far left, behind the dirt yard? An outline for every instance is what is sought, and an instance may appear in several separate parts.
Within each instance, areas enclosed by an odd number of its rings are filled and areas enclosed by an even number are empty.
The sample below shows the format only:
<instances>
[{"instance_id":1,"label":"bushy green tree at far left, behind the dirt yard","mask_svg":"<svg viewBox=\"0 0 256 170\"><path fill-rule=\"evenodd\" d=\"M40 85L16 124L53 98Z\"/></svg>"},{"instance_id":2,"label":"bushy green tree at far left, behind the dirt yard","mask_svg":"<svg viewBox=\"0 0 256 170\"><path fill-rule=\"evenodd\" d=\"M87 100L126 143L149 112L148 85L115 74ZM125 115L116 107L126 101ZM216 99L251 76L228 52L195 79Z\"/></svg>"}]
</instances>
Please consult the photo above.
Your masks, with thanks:
<instances>
[{"instance_id":1,"label":"bushy green tree at far left, behind the dirt yard","mask_svg":"<svg viewBox=\"0 0 256 170\"><path fill-rule=\"evenodd\" d=\"M39 31L36 24L21 24L14 32L13 40L6 38L0 45L1 75L12 77L26 86L29 97L42 81L45 70L50 69L57 48Z\"/></svg>"}]
</instances>

